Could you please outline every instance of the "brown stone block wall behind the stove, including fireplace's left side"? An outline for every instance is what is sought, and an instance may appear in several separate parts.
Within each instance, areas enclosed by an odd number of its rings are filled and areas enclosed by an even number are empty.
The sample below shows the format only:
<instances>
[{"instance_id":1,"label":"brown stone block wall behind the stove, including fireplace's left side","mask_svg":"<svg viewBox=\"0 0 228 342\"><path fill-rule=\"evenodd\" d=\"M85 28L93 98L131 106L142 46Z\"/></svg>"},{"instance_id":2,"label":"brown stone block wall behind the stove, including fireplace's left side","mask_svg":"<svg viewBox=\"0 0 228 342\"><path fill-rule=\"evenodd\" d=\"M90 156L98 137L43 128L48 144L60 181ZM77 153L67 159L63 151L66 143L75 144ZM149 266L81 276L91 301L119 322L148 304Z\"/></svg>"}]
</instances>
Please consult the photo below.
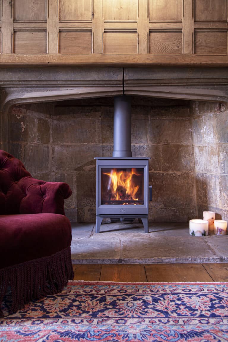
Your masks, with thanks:
<instances>
[{"instance_id":1,"label":"brown stone block wall behind the stove, including fireplace's left side","mask_svg":"<svg viewBox=\"0 0 228 342\"><path fill-rule=\"evenodd\" d=\"M151 158L150 221L197 215L192 110L183 100L132 99L132 154ZM72 222L95 222L94 157L112 149L113 98L21 105L9 114L9 152L34 177L70 185L65 211Z\"/></svg>"}]
</instances>

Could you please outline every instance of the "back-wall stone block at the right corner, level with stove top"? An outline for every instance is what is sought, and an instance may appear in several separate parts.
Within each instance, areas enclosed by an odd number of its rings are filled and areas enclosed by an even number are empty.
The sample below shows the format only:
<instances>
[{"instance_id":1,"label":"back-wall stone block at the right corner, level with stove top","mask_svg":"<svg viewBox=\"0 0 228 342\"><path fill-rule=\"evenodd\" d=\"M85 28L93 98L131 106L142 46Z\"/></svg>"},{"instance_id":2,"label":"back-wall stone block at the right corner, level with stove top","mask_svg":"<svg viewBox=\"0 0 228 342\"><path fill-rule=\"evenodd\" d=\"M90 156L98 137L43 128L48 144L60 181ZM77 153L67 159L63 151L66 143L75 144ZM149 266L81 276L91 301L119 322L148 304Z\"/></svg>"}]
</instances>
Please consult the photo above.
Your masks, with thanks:
<instances>
[{"instance_id":1,"label":"back-wall stone block at the right corner, level with stove top","mask_svg":"<svg viewBox=\"0 0 228 342\"><path fill-rule=\"evenodd\" d=\"M162 146L162 171L194 171L193 146Z\"/></svg>"}]
</instances>

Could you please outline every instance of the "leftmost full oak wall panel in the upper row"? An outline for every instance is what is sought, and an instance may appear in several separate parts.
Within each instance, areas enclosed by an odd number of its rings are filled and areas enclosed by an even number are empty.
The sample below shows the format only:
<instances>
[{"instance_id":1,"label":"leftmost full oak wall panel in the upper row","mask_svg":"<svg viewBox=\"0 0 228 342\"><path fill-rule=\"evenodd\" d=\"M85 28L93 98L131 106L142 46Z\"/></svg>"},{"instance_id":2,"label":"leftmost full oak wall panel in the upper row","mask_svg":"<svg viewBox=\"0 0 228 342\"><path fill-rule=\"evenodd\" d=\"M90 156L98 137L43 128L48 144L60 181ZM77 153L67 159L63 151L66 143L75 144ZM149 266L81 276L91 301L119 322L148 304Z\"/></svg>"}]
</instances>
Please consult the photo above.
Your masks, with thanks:
<instances>
[{"instance_id":1,"label":"leftmost full oak wall panel in the upper row","mask_svg":"<svg viewBox=\"0 0 228 342\"><path fill-rule=\"evenodd\" d=\"M47 0L15 0L14 20L46 20Z\"/></svg>"}]
</instances>

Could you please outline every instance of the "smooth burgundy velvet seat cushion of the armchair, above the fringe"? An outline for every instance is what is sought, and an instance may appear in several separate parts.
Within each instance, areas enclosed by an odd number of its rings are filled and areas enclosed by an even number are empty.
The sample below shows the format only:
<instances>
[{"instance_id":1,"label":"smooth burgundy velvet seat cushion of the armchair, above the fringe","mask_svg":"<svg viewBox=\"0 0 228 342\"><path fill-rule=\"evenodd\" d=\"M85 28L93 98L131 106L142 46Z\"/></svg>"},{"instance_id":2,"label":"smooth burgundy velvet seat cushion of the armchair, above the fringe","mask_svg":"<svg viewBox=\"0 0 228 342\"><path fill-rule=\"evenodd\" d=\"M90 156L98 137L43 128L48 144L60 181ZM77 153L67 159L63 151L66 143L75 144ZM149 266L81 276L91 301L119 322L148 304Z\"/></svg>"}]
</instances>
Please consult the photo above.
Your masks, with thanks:
<instances>
[{"instance_id":1,"label":"smooth burgundy velvet seat cushion of the armchair, above the fringe","mask_svg":"<svg viewBox=\"0 0 228 342\"><path fill-rule=\"evenodd\" d=\"M0 215L0 269L70 246L71 225L59 214Z\"/></svg>"}]
</instances>

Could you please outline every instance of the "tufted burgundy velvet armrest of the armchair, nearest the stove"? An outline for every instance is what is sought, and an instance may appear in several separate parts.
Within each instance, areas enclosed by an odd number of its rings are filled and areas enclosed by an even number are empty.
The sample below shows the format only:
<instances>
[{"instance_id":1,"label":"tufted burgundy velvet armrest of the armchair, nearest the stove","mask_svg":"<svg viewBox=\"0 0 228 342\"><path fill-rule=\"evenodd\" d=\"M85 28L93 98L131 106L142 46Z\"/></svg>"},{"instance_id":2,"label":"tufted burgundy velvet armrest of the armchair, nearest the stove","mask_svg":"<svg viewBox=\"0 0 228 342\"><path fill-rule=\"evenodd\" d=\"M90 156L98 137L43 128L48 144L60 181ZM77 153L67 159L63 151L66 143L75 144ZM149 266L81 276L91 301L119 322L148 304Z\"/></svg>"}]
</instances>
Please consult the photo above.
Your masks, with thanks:
<instances>
[{"instance_id":1,"label":"tufted burgundy velvet armrest of the armchair, nearest the stove","mask_svg":"<svg viewBox=\"0 0 228 342\"><path fill-rule=\"evenodd\" d=\"M67 183L44 182L33 177L23 177L18 186L25 197L21 200L20 214L64 212L64 199L71 196L72 191Z\"/></svg>"}]
</instances>

